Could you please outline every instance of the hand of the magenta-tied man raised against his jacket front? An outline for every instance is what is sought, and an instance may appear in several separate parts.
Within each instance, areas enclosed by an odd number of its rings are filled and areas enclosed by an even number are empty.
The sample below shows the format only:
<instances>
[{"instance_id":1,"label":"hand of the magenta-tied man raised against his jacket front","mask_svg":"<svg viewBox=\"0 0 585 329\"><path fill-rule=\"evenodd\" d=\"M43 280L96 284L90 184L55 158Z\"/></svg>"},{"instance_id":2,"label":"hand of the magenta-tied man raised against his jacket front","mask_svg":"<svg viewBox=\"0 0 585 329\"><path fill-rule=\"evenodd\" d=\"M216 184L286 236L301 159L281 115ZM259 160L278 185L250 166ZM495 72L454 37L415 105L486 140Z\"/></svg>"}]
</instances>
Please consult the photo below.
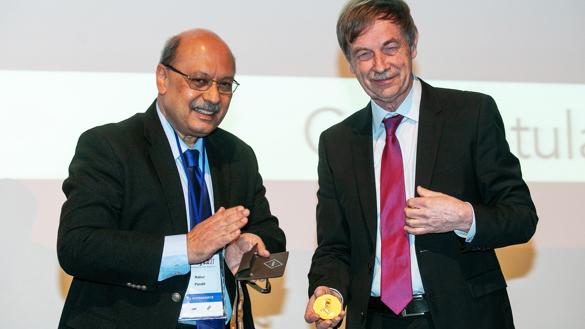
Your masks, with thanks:
<instances>
[{"instance_id":1,"label":"hand of the magenta-tied man raised against his jacket front","mask_svg":"<svg viewBox=\"0 0 585 329\"><path fill-rule=\"evenodd\" d=\"M473 223L473 208L470 204L448 196L417 187L418 198L409 198L404 208L409 234L449 232L455 229L469 232Z\"/></svg>"}]
</instances>

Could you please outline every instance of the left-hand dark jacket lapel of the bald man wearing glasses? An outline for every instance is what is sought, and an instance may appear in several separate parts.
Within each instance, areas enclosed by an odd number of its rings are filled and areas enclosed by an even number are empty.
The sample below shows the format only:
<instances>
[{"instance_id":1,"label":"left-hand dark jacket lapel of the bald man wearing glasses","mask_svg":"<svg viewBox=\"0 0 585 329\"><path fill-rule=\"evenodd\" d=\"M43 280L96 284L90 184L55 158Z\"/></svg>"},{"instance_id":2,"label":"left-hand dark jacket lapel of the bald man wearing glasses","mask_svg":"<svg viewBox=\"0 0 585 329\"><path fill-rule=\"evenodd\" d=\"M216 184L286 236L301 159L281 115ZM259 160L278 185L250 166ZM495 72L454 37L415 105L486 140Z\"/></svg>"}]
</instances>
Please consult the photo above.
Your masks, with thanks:
<instances>
[{"instance_id":1,"label":"left-hand dark jacket lapel of the bald man wearing glasses","mask_svg":"<svg viewBox=\"0 0 585 329\"><path fill-rule=\"evenodd\" d=\"M155 104L156 101L144 114L144 136L151 145L149 148L150 159L163 187L174 234L186 234L187 211L185 210L181 178L177 171L177 165L173 161L173 152L168 145L168 139L160 123Z\"/></svg>"}]
</instances>

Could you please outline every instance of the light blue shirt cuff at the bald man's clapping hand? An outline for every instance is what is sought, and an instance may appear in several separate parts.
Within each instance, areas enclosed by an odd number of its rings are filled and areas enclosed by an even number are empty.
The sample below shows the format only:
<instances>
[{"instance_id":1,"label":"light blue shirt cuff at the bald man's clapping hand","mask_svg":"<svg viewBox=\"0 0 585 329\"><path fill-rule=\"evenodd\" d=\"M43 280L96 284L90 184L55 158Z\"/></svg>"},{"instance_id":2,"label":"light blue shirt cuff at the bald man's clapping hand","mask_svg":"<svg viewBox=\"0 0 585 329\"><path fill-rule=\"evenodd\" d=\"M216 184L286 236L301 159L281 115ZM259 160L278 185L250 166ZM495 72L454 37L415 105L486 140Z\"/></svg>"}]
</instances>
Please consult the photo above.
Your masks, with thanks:
<instances>
[{"instance_id":1,"label":"light blue shirt cuff at the bald man's clapping hand","mask_svg":"<svg viewBox=\"0 0 585 329\"><path fill-rule=\"evenodd\" d=\"M189 273L191 265L187 257L187 234L164 237L163 258L160 260L159 281L171 276Z\"/></svg>"}]
</instances>

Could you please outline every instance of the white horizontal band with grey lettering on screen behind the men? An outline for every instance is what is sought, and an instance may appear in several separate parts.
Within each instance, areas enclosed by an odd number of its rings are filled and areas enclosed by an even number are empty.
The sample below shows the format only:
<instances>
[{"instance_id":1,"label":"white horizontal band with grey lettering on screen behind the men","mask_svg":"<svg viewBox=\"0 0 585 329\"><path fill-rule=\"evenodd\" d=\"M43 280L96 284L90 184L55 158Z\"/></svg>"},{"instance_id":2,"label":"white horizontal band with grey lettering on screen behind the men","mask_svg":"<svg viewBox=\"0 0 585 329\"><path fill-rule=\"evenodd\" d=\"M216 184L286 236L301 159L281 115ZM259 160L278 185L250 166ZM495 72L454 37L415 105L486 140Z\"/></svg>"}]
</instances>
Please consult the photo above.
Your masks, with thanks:
<instances>
[{"instance_id":1,"label":"white horizontal band with grey lettering on screen behind the men","mask_svg":"<svg viewBox=\"0 0 585 329\"><path fill-rule=\"evenodd\" d=\"M354 78L236 78L220 126L252 146L266 180L316 180L319 133L369 101ZM491 95L526 181L585 181L585 84L427 82ZM156 95L154 73L0 70L0 178L64 179L82 132Z\"/></svg>"}]
</instances>

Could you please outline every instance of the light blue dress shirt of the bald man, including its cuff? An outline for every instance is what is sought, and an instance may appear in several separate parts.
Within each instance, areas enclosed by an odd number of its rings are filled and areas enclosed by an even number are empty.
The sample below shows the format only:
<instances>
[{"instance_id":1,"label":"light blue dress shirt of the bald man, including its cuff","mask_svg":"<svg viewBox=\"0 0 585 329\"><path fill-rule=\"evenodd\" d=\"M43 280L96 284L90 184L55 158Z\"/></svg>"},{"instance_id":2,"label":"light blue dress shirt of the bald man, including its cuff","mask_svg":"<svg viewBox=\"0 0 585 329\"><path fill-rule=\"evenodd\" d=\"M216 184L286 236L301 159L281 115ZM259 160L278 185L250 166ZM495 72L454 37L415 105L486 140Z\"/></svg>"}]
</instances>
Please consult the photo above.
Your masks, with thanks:
<instances>
[{"instance_id":1,"label":"light blue dress shirt of the bald man, including its cuff","mask_svg":"<svg viewBox=\"0 0 585 329\"><path fill-rule=\"evenodd\" d=\"M183 187L183 196L185 198L185 211L187 212L187 222L185 222L185 225L187 225L187 228L189 228L189 190L187 185L187 176L185 175L185 170L183 169L183 162L181 162L181 153L184 153L185 150L188 149L199 150L199 167L203 168L203 159L201 157L201 154L203 154L203 139L198 138L197 142L195 142L195 145L193 145L192 148L189 148L182 139L179 139L179 143L181 145L181 151L179 151L177 148L177 141L175 139L173 126L168 123L167 119L164 118L163 114L160 112L158 103L156 104L156 112L159 115L160 123L163 125L164 133L168 139L168 144L171 146L171 150L173 151L175 164L177 165L179 177L181 178L181 186ZM207 184L209 203L213 205L214 190L211 184L211 174L209 173L207 152L205 153L205 168L207 168L207 170L205 170L205 184ZM215 213L214 207L211 207L211 213ZM167 237L164 237L163 258L160 261L159 281L176 275L185 275L190 271L191 265L189 264L187 257L187 235L168 235ZM232 313L229 312L229 310L232 309L232 304L229 300L229 295L227 290L225 290L225 287L223 289L223 293L226 296L226 310L228 310L228 318L226 318L226 323L228 323L232 317ZM184 323L195 324L196 322L197 321L185 321Z\"/></svg>"}]
</instances>

